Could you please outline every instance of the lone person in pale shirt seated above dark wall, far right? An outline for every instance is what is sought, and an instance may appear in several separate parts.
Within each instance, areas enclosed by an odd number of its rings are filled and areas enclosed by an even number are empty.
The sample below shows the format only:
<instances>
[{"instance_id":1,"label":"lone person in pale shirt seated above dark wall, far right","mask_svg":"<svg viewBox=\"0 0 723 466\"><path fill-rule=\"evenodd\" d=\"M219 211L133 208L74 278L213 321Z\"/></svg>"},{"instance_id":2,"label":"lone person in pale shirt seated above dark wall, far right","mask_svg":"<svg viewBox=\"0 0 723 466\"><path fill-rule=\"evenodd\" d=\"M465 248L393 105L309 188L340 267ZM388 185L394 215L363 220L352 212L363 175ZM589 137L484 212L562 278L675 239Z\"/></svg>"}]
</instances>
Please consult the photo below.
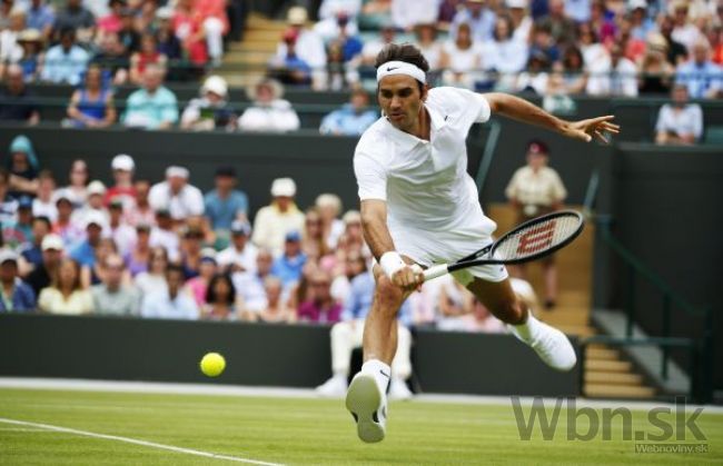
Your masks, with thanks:
<instances>
[{"instance_id":1,"label":"lone person in pale shirt seated above dark wall, far right","mask_svg":"<svg viewBox=\"0 0 723 466\"><path fill-rule=\"evenodd\" d=\"M655 143L693 145L703 136L703 110L689 101L687 87L673 87L672 103L665 103L657 113Z\"/></svg>"}]
</instances>

